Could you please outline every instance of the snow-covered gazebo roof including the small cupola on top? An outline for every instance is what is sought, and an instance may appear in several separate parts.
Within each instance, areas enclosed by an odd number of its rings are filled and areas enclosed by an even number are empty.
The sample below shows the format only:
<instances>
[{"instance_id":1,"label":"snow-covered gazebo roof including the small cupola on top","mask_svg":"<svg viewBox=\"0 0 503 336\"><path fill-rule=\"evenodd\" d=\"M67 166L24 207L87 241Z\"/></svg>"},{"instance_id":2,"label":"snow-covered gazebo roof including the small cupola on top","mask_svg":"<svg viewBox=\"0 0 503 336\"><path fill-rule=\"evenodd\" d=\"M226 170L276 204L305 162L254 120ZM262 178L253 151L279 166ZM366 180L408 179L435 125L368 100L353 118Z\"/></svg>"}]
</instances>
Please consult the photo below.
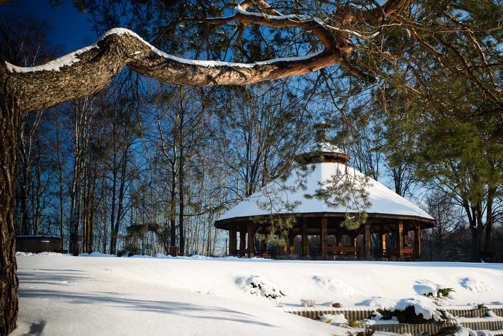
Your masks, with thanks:
<instances>
[{"instance_id":1,"label":"snow-covered gazebo roof including the small cupola on top","mask_svg":"<svg viewBox=\"0 0 503 336\"><path fill-rule=\"evenodd\" d=\"M349 155L327 140L327 124L315 124L316 139L309 152L297 156L297 161L310 164L312 171L306 176L302 170L294 170L285 182L272 181L261 191L252 194L215 221L215 226L234 221L247 221L255 216L272 214L299 214L306 216L340 216L362 209L361 197L352 197L359 205L328 205L323 199L306 197L313 195L320 187L329 183L349 181L354 188L364 187L371 203L364 209L369 218L409 219L435 224L433 217L412 204L402 196L390 190L380 182L366 177L358 170L348 167ZM336 177L336 179L334 179ZM340 182L333 182L338 180Z\"/></svg>"}]
</instances>

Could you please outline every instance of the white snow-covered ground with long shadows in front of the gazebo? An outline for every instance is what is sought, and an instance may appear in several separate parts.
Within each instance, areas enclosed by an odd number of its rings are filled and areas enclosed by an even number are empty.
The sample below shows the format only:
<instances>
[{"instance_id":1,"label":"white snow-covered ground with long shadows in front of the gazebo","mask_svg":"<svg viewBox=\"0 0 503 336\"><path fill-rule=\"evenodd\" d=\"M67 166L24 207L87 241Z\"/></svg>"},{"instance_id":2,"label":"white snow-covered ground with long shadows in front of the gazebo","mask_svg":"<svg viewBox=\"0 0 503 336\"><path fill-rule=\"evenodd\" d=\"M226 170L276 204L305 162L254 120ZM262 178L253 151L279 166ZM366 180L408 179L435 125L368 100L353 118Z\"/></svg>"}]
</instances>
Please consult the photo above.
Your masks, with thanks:
<instances>
[{"instance_id":1,"label":"white snow-covered ground with long shadows in front of the gazebo","mask_svg":"<svg viewBox=\"0 0 503 336\"><path fill-rule=\"evenodd\" d=\"M281 311L317 305L400 308L502 304L503 264L118 258L18 254L13 335L346 334ZM259 286L260 284L260 286ZM424 294L454 293L442 302ZM377 335L377 333L375 333Z\"/></svg>"}]
</instances>

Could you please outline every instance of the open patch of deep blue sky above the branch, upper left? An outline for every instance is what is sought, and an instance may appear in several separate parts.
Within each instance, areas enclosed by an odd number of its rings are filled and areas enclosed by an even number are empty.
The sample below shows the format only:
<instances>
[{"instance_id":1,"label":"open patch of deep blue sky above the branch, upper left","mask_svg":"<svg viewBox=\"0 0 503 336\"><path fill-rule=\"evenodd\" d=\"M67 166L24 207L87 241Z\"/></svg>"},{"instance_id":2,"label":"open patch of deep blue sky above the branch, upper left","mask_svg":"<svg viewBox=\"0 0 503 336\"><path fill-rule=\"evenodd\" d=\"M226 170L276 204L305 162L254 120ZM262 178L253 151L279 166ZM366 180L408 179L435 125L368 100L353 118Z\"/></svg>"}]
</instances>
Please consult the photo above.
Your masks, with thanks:
<instances>
[{"instance_id":1,"label":"open patch of deep blue sky above the branch, upper left","mask_svg":"<svg viewBox=\"0 0 503 336\"><path fill-rule=\"evenodd\" d=\"M31 16L47 22L52 27L48 35L50 42L61 45L65 53L92 44L97 39L92 31L93 25L88 21L90 15L80 13L70 0L64 0L63 5L57 8L51 8L47 0L18 0L0 7L0 12Z\"/></svg>"}]
</instances>

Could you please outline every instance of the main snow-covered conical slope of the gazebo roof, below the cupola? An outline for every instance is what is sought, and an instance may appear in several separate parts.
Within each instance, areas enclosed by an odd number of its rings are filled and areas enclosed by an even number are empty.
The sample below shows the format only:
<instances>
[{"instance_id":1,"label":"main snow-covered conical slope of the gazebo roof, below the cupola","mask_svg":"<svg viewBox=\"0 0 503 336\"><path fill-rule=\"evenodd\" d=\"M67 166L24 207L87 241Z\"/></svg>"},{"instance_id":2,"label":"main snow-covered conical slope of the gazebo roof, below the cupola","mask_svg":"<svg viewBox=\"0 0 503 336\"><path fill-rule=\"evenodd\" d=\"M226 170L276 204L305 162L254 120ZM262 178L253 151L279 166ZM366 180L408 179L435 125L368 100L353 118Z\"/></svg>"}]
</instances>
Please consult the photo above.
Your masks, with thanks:
<instances>
[{"instance_id":1,"label":"main snow-covered conical slope of the gazebo roof, below the cupola","mask_svg":"<svg viewBox=\"0 0 503 336\"><path fill-rule=\"evenodd\" d=\"M347 178L353 178L356 181L361 180L364 174L338 162L320 162L312 166L314 170L307 176L302 176L300 171L294 171L285 182L270 182L263 190L254 193L220 216L215 224L218 224L220 221L228 222L230 219L237 220L240 218L241 220L245 220L253 216L292 212L299 214L346 214L346 207L330 207L323 200L306 198L305 194L314 194L316 189L320 188L321 185L326 185L327 181L338 173L339 175L345 173ZM304 183L305 189L298 187L301 181ZM295 188L295 190L290 188ZM369 178L365 188L372 203L370 208L366 209L370 217L390 215L390 217L410 217L410 219L422 219L423 221L434 222L434 219L421 208L374 179ZM288 207L284 206L284 204L293 205L295 203L299 204L293 211L288 210Z\"/></svg>"}]
</instances>

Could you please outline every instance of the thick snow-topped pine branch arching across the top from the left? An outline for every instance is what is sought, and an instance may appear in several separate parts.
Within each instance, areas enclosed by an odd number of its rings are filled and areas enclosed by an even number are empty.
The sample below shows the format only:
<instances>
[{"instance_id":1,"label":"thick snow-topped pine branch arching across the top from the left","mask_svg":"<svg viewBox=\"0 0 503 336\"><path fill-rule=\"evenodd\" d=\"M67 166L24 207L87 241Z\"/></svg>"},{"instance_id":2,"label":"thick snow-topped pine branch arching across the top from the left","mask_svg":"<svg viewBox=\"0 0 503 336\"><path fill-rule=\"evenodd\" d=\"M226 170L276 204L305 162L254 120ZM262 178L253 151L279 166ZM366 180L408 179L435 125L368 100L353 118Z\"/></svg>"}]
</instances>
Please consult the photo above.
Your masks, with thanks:
<instances>
[{"instance_id":1,"label":"thick snow-topped pine branch arching across the top from the left","mask_svg":"<svg viewBox=\"0 0 503 336\"><path fill-rule=\"evenodd\" d=\"M404 0L390 0L382 8L342 9L341 20L382 19L382 12L392 13ZM312 32L323 48L305 56L234 63L214 60L191 60L167 54L144 41L136 33L115 28L107 31L97 43L59 57L48 63L23 68L2 62L0 78L19 102L23 112L38 110L96 93L108 85L125 66L143 76L178 85L246 85L277 80L341 64L354 76L365 81L373 78L359 70L348 57L354 47L344 32L333 33L316 18L301 15L271 15L274 12L260 2L262 13L248 12L250 3L240 3L234 14L224 18L197 21L224 24L238 21L274 28L294 27Z\"/></svg>"}]
</instances>

